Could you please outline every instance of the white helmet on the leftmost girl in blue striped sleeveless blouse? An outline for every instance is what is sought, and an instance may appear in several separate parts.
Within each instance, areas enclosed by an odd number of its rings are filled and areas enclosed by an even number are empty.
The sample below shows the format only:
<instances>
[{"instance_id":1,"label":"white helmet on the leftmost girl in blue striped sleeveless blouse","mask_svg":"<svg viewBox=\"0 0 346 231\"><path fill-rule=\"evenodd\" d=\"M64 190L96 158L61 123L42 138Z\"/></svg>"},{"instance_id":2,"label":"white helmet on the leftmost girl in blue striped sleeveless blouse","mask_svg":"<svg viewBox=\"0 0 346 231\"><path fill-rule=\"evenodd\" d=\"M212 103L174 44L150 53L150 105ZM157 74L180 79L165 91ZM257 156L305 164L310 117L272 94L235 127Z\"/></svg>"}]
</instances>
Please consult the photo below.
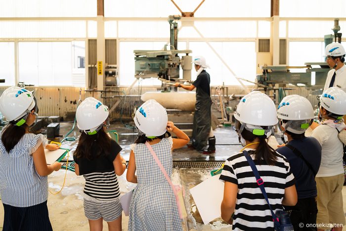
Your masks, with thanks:
<instances>
[{"instance_id":1,"label":"white helmet on the leftmost girl in blue striped sleeveless blouse","mask_svg":"<svg viewBox=\"0 0 346 231\"><path fill-rule=\"evenodd\" d=\"M0 96L0 111L7 121L21 126L26 122L28 115L34 110L37 115L39 108L33 92L24 88L9 87Z\"/></svg>"}]
</instances>

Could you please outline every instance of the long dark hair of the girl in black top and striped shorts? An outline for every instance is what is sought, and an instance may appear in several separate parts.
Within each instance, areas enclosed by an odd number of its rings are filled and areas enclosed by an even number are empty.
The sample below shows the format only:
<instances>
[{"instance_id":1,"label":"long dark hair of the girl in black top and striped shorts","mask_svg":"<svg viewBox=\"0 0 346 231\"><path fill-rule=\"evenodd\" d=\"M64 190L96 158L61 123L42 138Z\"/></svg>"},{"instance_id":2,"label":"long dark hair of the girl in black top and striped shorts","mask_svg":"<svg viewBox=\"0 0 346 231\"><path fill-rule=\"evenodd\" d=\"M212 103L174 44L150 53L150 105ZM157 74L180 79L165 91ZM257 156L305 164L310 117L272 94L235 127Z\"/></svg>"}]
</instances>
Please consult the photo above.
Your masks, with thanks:
<instances>
[{"instance_id":1,"label":"long dark hair of the girl in black top and striped shorts","mask_svg":"<svg viewBox=\"0 0 346 231\"><path fill-rule=\"evenodd\" d=\"M103 129L100 129L94 135L87 135L82 132L74 154L77 158L87 158L88 160L98 158L109 152L111 140ZM91 147L94 147L95 152L92 152Z\"/></svg>"}]
</instances>

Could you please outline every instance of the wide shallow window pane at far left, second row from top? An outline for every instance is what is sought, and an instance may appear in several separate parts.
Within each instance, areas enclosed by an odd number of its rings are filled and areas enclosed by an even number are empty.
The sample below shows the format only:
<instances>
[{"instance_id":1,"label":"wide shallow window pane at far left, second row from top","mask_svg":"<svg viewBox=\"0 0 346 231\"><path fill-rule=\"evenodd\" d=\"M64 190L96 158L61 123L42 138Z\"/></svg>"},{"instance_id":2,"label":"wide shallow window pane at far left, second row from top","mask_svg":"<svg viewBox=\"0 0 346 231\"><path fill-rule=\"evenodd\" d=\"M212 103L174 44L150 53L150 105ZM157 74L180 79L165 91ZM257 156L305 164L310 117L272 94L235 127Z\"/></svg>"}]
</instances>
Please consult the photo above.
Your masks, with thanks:
<instances>
[{"instance_id":1,"label":"wide shallow window pane at far left, second row from top","mask_svg":"<svg viewBox=\"0 0 346 231\"><path fill-rule=\"evenodd\" d=\"M86 21L0 21L0 38L85 38L86 31Z\"/></svg>"}]
</instances>

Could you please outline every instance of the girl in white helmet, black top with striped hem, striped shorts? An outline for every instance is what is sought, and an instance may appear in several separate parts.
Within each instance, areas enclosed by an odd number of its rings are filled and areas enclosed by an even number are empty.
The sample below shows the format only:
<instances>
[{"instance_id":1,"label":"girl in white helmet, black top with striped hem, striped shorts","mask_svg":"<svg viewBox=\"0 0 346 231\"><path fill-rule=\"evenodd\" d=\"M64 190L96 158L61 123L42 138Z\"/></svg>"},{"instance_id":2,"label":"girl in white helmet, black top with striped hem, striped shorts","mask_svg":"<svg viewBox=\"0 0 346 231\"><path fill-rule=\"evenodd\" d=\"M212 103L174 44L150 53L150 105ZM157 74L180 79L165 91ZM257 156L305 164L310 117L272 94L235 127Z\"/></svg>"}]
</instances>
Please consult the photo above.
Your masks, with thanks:
<instances>
[{"instance_id":1,"label":"girl in white helmet, black top with striped hem, striped shorts","mask_svg":"<svg viewBox=\"0 0 346 231\"><path fill-rule=\"evenodd\" d=\"M122 207L117 176L126 169L120 155L122 148L105 132L109 127L108 107L93 97L77 108L77 126L82 130L73 154L77 176L86 179L84 212L90 230L102 230L103 220L109 230L122 230Z\"/></svg>"}]
</instances>

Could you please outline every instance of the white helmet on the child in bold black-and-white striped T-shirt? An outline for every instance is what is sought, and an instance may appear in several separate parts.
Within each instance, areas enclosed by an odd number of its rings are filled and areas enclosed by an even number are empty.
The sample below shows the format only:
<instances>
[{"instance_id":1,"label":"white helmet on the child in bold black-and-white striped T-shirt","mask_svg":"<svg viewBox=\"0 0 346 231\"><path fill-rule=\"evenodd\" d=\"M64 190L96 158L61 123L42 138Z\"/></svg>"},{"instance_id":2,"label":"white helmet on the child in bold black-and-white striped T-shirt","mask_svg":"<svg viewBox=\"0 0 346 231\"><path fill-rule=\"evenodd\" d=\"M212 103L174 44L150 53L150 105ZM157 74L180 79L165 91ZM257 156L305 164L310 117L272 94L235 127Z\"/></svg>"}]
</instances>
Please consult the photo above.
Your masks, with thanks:
<instances>
[{"instance_id":1,"label":"white helmet on the child in bold black-and-white striped T-shirt","mask_svg":"<svg viewBox=\"0 0 346 231\"><path fill-rule=\"evenodd\" d=\"M254 135L266 135L267 138L271 135L272 126L278 121L273 100L261 92L251 92L245 95L234 112L234 118L242 124L238 134L241 134L245 128Z\"/></svg>"}]
</instances>

